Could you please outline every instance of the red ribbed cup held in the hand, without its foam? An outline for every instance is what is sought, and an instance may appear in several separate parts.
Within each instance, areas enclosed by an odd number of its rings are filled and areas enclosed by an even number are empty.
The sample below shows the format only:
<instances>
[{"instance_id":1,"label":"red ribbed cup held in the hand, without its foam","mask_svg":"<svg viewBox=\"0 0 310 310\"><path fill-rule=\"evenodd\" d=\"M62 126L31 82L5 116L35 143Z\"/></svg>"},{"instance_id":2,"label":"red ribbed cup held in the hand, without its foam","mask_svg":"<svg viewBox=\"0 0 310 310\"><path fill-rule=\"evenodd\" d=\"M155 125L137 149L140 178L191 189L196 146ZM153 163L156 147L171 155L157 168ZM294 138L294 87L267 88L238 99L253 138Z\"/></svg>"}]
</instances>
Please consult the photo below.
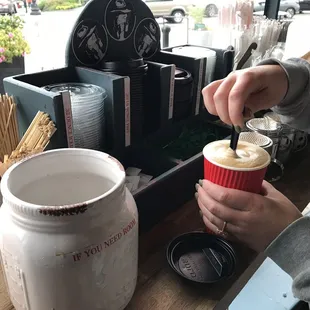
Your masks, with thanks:
<instances>
[{"instance_id":1,"label":"red ribbed cup held in the hand, without its foam","mask_svg":"<svg viewBox=\"0 0 310 310\"><path fill-rule=\"evenodd\" d=\"M223 187L259 194L262 189L267 167L270 163L270 155L268 152L255 145L255 147L260 148L260 152L263 151L265 154L264 156L266 156L266 161L262 165L250 168L229 167L216 163L210 158L210 149L214 147L212 144L220 142L221 141L211 142L203 149L204 178ZM228 140L227 142L229 143ZM242 143L250 144L243 141ZM251 144L251 146L253 145L254 144Z\"/></svg>"}]
</instances>

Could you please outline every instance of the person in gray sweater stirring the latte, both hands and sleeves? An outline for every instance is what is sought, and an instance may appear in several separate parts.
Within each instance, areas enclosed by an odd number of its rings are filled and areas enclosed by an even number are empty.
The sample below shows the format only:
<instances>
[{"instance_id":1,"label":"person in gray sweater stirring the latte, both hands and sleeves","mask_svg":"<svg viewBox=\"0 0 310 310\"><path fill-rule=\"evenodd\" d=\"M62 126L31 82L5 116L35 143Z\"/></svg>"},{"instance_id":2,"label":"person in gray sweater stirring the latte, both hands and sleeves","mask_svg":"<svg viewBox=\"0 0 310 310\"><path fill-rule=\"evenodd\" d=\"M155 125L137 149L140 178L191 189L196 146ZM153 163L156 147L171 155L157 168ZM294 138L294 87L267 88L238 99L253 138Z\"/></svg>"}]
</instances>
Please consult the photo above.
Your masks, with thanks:
<instances>
[{"instance_id":1,"label":"person in gray sweater stirring the latte, both hands and sleeves","mask_svg":"<svg viewBox=\"0 0 310 310\"><path fill-rule=\"evenodd\" d=\"M303 59L266 60L211 83L202 93L209 113L237 133L244 116L269 108L283 123L310 132L310 64ZM232 149L236 141L232 137ZM310 217L266 181L259 193L251 193L200 180L196 198L207 228L265 251L293 278L294 295L310 302Z\"/></svg>"}]
</instances>

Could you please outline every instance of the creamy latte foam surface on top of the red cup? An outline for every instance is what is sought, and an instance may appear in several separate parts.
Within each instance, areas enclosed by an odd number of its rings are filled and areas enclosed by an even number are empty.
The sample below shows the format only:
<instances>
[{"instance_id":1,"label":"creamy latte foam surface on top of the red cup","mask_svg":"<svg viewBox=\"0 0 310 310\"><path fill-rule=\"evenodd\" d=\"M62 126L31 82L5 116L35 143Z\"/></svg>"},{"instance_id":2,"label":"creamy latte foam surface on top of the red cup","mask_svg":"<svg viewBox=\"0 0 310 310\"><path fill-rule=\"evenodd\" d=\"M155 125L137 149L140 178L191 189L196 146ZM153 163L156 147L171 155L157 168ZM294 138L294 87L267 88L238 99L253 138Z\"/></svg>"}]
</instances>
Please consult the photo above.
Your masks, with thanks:
<instances>
[{"instance_id":1,"label":"creamy latte foam surface on top of the red cup","mask_svg":"<svg viewBox=\"0 0 310 310\"><path fill-rule=\"evenodd\" d=\"M262 169L270 163L270 155L260 146L239 141L234 152L229 145L229 140L211 142L203 149L204 157L216 165L236 170Z\"/></svg>"}]
</instances>

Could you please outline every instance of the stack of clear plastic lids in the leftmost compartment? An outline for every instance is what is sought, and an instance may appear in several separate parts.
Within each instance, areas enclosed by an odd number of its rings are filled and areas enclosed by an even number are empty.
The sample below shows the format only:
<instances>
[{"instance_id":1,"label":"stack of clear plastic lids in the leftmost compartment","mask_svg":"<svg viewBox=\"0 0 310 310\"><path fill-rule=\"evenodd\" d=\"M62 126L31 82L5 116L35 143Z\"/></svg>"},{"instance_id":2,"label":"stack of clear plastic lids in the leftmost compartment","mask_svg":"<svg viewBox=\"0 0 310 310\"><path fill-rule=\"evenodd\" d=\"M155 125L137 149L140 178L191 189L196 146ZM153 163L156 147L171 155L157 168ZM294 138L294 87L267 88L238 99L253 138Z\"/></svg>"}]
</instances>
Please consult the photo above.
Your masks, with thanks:
<instances>
[{"instance_id":1,"label":"stack of clear plastic lids in the leftmost compartment","mask_svg":"<svg viewBox=\"0 0 310 310\"><path fill-rule=\"evenodd\" d=\"M75 147L102 149L106 91L99 86L84 83L54 84L44 88L52 92L70 92Z\"/></svg>"}]
</instances>

